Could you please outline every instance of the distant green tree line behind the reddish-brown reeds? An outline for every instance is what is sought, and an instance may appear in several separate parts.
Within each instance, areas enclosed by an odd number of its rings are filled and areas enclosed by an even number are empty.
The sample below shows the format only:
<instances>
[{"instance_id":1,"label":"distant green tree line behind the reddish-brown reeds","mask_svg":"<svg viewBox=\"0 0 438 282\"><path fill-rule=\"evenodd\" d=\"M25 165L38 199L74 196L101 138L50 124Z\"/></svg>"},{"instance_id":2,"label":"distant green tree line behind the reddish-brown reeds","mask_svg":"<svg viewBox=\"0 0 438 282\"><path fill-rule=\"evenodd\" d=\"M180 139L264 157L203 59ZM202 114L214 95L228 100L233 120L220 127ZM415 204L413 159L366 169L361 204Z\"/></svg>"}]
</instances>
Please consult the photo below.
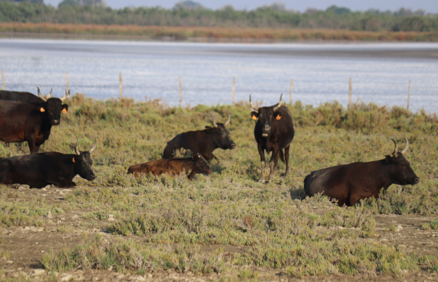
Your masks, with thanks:
<instances>
[{"instance_id":1,"label":"distant green tree line behind the reddish-brown reeds","mask_svg":"<svg viewBox=\"0 0 438 282\"><path fill-rule=\"evenodd\" d=\"M232 6L211 10L194 1L179 2L172 9L112 9L102 0L64 0L57 8L43 4L42 0L0 0L0 22L438 31L438 16L426 14L422 10L401 8L396 12L358 12L331 6L325 11L309 8L306 12L299 13L278 3L251 11L236 10Z\"/></svg>"}]
</instances>

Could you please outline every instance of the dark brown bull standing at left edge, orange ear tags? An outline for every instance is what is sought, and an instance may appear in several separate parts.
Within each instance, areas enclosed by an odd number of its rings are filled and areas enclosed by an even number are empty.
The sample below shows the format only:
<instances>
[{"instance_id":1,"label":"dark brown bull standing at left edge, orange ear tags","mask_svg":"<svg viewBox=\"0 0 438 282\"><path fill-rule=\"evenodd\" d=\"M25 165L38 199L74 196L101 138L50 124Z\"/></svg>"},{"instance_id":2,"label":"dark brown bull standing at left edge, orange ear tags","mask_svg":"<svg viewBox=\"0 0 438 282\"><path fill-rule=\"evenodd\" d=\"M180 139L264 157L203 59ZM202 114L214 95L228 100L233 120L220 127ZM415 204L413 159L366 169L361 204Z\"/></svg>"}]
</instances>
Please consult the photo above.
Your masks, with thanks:
<instances>
[{"instance_id":1,"label":"dark brown bull standing at left edge, orange ear tags","mask_svg":"<svg viewBox=\"0 0 438 282\"><path fill-rule=\"evenodd\" d=\"M69 105L62 102L69 99L70 91L63 98L45 99L38 88L39 98L28 93L23 94L23 102L7 100L20 98L20 93L22 92L0 92L0 99L6 97L0 103L0 140L27 141L30 153L33 154L49 138L52 125L59 125L61 112L65 113L69 109Z\"/></svg>"}]
</instances>

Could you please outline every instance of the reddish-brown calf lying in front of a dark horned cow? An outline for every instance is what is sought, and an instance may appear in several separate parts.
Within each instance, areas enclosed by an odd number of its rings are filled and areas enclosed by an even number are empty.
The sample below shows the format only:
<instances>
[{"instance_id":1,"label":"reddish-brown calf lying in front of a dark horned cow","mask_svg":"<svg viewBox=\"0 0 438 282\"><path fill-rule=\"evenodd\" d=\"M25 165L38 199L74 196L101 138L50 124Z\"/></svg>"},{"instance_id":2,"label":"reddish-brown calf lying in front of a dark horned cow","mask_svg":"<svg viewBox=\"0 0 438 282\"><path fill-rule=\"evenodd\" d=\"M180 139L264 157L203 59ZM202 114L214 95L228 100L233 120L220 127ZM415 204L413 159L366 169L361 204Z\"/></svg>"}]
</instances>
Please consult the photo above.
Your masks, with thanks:
<instances>
[{"instance_id":1,"label":"reddish-brown calf lying in front of a dark horned cow","mask_svg":"<svg viewBox=\"0 0 438 282\"><path fill-rule=\"evenodd\" d=\"M134 166L129 166L128 173L133 173L135 177L138 177L141 173L152 173L154 176L167 173L170 176L177 176L183 170L186 172L190 171L187 175L190 180L193 179L196 173L211 173L210 166L208 166L206 159L201 154L193 154L191 158L158 159L143 164L134 164Z\"/></svg>"}]
</instances>

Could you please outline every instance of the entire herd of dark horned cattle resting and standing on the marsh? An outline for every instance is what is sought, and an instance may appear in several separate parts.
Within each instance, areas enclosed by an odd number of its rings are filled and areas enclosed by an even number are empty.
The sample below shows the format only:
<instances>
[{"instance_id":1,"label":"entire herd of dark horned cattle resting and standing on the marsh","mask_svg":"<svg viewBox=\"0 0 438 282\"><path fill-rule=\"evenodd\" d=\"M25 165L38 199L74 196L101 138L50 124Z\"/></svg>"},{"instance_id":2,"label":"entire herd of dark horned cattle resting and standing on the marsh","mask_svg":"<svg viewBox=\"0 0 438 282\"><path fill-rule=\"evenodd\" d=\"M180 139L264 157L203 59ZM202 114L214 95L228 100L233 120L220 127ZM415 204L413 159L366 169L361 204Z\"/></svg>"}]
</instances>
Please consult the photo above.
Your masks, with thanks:
<instances>
[{"instance_id":1,"label":"entire herd of dark horned cattle resting and standing on the marsh","mask_svg":"<svg viewBox=\"0 0 438 282\"><path fill-rule=\"evenodd\" d=\"M6 185L29 185L32 188L43 188L46 185L57 185L59 188L71 188L76 175L89 181L96 178L91 166L90 154L97 143L89 151L80 152L78 142L74 146L75 154L59 152L38 153L40 146L49 138L52 125L59 125L61 113L66 113L69 106L63 104L70 97L70 91L62 98L50 97L52 91L43 96L37 87L38 96L29 92L0 91L0 140L4 142L27 141L30 154L18 157L0 158L0 183ZM251 102L254 111L252 119L256 120L254 137L261 159L261 176L259 182L264 183L266 153L271 154L269 166L271 173L268 180L276 176L278 159L285 162L285 175L290 173L289 150L295 131L292 116L287 106L280 102L273 106L257 108ZM128 173L135 177L167 173L175 176L187 173L193 179L196 173L211 173L209 162L218 160L213 154L217 148L235 149L235 142L230 137L226 126L231 121L230 113L225 123L216 123L213 114L212 126L204 130L189 131L175 136L167 146L162 159L130 166ZM339 206L352 206L367 197L378 197L381 188L386 190L391 184L414 185L420 181L409 162L405 159L409 142L398 152L395 140L392 156L370 162L356 162L323 168L313 171L304 178L306 195L318 193L336 200ZM191 157L175 158L175 151L187 149ZM284 151L283 151L284 150Z\"/></svg>"}]
</instances>

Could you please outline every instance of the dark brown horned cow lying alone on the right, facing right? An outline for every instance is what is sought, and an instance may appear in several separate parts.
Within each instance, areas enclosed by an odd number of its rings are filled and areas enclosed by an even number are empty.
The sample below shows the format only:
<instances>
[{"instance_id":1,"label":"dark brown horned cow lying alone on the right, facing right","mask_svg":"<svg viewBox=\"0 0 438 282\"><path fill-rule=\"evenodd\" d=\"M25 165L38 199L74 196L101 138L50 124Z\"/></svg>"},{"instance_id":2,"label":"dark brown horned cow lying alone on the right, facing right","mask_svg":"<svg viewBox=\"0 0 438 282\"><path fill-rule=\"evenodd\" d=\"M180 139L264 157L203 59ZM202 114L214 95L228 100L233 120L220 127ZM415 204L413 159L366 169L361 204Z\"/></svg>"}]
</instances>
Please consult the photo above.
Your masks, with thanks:
<instances>
[{"instance_id":1,"label":"dark brown horned cow lying alone on the right, facing right","mask_svg":"<svg viewBox=\"0 0 438 282\"><path fill-rule=\"evenodd\" d=\"M380 161L357 162L312 171L304 178L306 195L321 193L338 200L340 207L343 204L353 206L360 199L372 196L377 199L381 188L386 190L391 184L417 184L420 178L410 168L409 161L403 157L409 147L406 137L405 140L406 147L401 152L398 152L397 142L393 140L393 157L386 156Z\"/></svg>"}]
</instances>

